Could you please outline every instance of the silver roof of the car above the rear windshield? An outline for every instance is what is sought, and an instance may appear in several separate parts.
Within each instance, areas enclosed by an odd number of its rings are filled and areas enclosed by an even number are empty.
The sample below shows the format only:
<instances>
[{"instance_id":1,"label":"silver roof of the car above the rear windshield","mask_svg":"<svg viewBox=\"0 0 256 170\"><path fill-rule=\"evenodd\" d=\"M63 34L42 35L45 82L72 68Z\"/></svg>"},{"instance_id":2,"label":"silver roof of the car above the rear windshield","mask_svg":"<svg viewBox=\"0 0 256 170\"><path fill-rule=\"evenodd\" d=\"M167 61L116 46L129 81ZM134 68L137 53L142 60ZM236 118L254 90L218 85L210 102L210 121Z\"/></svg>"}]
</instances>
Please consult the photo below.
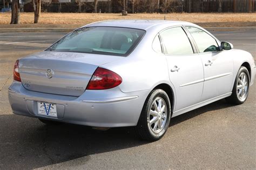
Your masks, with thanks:
<instances>
[{"instance_id":1,"label":"silver roof of the car above the rear windshield","mask_svg":"<svg viewBox=\"0 0 256 170\"><path fill-rule=\"evenodd\" d=\"M123 28L133 28L133 29L142 29L148 30L152 27L154 28L163 28L163 26L175 26L175 25L195 25L190 22L183 21L169 21L169 20L107 20L100 21L91 24L84 25L83 27L88 26L115 26Z\"/></svg>"}]
</instances>

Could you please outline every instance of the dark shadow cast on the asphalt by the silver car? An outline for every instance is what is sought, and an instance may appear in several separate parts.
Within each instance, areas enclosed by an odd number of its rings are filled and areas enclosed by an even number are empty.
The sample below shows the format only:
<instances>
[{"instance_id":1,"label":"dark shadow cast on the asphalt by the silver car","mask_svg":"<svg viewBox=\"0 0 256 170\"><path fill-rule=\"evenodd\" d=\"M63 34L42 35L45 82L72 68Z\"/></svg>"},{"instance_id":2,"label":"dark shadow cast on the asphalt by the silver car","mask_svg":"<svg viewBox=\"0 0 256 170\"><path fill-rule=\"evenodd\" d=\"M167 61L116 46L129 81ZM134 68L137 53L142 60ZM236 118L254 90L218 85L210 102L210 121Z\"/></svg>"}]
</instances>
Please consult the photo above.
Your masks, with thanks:
<instances>
[{"instance_id":1,"label":"dark shadow cast on the asphalt by the silver car","mask_svg":"<svg viewBox=\"0 0 256 170\"><path fill-rule=\"evenodd\" d=\"M211 110L230 107L220 100L172 118L171 125ZM133 127L96 131L90 127L62 124L44 125L34 118L0 115L0 169L31 169L90 155L146 145Z\"/></svg>"}]
</instances>

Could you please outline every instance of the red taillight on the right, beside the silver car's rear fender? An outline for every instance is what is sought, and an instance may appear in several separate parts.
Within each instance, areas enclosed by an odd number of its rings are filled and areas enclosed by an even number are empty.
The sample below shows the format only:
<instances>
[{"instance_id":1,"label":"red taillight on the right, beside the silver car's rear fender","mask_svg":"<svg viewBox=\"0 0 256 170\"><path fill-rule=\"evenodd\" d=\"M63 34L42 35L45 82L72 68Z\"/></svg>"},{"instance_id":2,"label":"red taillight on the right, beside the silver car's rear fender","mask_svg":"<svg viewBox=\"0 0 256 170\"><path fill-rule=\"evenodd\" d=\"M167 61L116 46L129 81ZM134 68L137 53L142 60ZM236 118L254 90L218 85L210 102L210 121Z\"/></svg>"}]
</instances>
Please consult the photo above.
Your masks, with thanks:
<instances>
[{"instance_id":1,"label":"red taillight on the right, beside the silver car's rear fender","mask_svg":"<svg viewBox=\"0 0 256 170\"><path fill-rule=\"evenodd\" d=\"M98 67L87 85L87 90L111 89L122 83L122 78L115 72Z\"/></svg>"}]
</instances>

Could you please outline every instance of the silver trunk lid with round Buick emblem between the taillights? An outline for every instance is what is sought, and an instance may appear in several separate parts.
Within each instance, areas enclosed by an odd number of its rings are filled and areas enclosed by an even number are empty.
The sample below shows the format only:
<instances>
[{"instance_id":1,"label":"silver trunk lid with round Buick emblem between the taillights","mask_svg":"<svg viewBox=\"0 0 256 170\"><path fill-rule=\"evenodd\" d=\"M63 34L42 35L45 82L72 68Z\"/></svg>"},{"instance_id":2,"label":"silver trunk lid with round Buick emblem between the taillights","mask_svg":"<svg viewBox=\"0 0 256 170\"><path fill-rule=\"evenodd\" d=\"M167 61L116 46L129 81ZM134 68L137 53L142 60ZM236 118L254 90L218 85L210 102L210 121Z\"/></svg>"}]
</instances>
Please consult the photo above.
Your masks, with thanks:
<instances>
[{"instance_id":1,"label":"silver trunk lid with round Buick emblem between the taillights","mask_svg":"<svg viewBox=\"0 0 256 170\"><path fill-rule=\"evenodd\" d=\"M122 58L73 52L43 51L20 59L19 73L22 84L27 90L80 96L84 93L92 74L98 66Z\"/></svg>"}]
</instances>

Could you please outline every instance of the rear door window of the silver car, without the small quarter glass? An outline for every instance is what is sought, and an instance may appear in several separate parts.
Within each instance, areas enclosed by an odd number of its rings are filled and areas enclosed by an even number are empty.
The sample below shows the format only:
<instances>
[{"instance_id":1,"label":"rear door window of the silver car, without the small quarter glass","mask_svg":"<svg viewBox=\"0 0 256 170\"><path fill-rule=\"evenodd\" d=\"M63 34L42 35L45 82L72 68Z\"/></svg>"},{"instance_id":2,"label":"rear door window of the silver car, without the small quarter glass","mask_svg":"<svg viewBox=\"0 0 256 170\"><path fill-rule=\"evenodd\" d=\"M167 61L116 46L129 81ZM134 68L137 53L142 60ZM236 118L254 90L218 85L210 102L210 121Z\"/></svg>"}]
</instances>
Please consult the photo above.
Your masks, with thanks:
<instances>
[{"instance_id":1,"label":"rear door window of the silver car, without the small quarter glass","mask_svg":"<svg viewBox=\"0 0 256 170\"><path fill-rule=\"evenodd\" d=\"M191 55L193 49L181 27L167 29L160 33L167 55Z\"/></svg>"}]
</instances>

